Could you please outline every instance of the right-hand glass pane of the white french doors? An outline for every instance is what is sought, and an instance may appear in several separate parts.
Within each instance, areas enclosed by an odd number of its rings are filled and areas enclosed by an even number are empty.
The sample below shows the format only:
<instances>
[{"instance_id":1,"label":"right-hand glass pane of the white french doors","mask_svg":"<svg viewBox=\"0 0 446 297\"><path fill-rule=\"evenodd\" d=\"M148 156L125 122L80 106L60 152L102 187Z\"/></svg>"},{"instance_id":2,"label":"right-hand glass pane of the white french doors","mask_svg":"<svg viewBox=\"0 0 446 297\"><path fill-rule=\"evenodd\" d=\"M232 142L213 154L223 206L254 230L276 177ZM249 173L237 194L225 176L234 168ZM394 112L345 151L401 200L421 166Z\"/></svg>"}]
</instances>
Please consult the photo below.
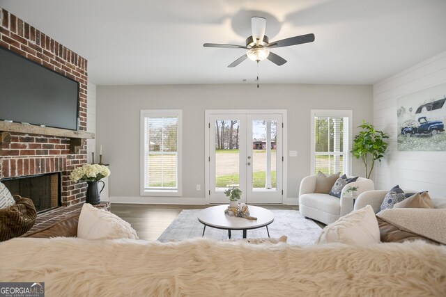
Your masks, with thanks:
<instances>
[{"instance_id":1,"label":"right-hand glass pane of the white french doors","mask_svg":"<svg viewBox=\"0 0 446 297\"><path fill-rule=\"evenodd\" d=\"M252 189L266 190L276 188L276 148L277 121L252 121Z\"/></svg>"}]
</instances>

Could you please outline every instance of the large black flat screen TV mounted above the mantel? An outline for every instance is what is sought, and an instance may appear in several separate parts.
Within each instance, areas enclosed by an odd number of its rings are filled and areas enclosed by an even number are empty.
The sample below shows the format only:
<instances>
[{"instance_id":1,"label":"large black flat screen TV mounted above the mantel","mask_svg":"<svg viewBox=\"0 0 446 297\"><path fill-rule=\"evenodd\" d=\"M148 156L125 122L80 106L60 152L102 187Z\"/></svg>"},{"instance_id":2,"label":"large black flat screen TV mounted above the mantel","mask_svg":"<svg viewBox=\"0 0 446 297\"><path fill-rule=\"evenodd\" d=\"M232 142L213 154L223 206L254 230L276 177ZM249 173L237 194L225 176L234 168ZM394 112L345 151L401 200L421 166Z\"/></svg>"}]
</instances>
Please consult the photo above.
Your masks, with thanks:
<instances>
[{"instance_id":1,"label":"large black flat screen TV mounted above the mantel","mask_svg":"<svg viewBox=\"0 0 446 297\"><path fill-rule=\"evenodd\" d=\"M77 130L79 83L0 47L0 120Z\"/></svg>"}]
</instances>

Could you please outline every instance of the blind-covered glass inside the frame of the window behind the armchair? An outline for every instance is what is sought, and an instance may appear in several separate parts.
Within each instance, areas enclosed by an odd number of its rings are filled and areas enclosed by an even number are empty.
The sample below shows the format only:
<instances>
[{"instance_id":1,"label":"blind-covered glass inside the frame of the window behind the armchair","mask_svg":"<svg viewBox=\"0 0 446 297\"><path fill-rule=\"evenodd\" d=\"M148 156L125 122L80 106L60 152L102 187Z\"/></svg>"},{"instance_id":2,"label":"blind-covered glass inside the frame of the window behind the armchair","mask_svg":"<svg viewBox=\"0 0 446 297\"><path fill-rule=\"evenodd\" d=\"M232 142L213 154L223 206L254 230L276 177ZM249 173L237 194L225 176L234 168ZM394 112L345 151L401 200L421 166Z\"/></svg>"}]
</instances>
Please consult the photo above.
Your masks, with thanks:
<instances>
[{"instance_id":1,"label":"blind-covered glass inside the frame of the window behind the armchair","mask_svg":"<svg viewBox=\"0 0 446 297\"><path fill-rule=\"evenodd\" d=\"M348 172L348 117L314 117L315 172Z\"/></svg>"}]
</instances>

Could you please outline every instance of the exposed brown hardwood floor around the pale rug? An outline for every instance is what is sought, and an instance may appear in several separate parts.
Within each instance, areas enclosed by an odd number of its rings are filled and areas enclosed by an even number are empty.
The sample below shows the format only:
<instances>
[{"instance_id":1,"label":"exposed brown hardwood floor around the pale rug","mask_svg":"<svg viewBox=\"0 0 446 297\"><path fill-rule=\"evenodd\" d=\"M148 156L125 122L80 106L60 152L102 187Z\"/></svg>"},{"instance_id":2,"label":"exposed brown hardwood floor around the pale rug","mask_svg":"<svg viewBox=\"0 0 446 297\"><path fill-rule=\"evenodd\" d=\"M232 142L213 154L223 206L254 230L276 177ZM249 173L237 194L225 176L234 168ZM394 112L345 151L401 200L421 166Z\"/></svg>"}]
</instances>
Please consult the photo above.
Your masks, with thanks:
<instances>
[{"instance_id":1,"label":"exposed brown hardwood floor around the pale rug","mask_svg":"<svg viewBox=\"0 0 446 297\"><path fill-rule=\"evenodd\" d=\"M294 209L298 205L260 205L267 209ZM210 205L118 204L112 203L112 213L128 221L139 239L156 240L183 209L203 209Z\"/></svg>"}]
</instances>

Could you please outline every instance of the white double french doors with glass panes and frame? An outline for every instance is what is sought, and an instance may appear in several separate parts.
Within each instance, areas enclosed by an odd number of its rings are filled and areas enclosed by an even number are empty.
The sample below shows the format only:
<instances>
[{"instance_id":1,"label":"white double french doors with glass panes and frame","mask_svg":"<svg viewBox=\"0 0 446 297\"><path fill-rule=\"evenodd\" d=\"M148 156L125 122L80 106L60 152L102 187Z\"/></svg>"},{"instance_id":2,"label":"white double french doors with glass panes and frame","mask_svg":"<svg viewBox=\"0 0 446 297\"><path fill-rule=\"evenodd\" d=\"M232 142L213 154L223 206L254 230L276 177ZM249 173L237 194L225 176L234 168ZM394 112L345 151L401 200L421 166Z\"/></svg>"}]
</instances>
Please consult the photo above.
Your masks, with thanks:
<instances>
[{"instance_id":1,"label":"white double french doors with glass panes and frame","mask_svg":"<svg viewBox=\"0 0 446 297\"><path fill-rule=\"evenodd\" d=\"M226 188L240 202L282 203L282 113L212 111L208 119L208 198L227 203Z\"/></svg>"}]
</instances>

